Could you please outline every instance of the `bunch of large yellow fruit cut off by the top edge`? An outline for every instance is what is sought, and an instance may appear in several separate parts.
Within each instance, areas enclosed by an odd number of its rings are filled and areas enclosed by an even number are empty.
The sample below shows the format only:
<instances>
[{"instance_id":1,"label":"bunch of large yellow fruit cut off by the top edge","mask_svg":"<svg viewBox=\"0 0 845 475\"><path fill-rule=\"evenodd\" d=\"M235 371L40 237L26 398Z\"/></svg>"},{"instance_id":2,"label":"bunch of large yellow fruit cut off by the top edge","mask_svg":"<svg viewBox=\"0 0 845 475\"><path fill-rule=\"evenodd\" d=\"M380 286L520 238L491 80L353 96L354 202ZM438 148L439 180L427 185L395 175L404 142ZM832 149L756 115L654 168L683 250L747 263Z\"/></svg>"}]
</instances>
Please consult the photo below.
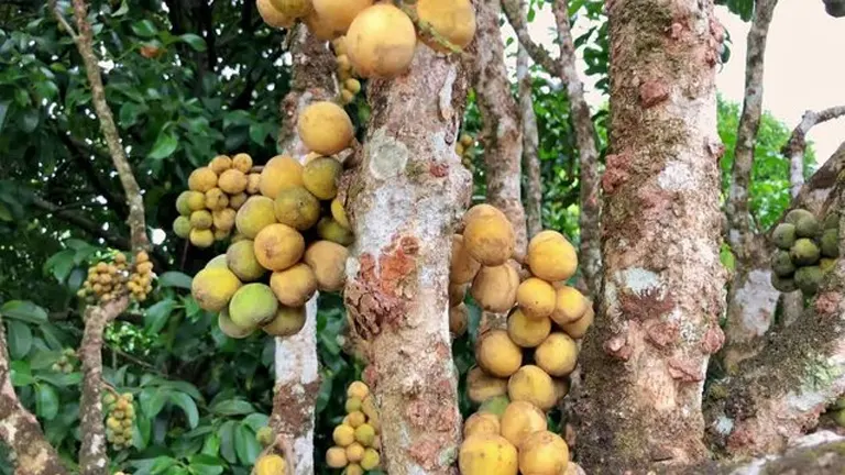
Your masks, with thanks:
<instances>
[{"instance_id":1,"label":"bunch of large yellow fruit cut off by the top edge","mask_svg":"<svg viewBox=\"0 0 845 475\"><path fill-rule=\"evenodd\" d=\"M414 59L414 22L389 2L257 0L257 7L264 22L274 27L290 27L301 20L320 40L345 35L349 60L362 77L402 75ZM469 0L417 0L413 8L422 42L438 52L450 51L443 41L464 48L475 35L475 11Z\"/></svg>"}]
</instances>

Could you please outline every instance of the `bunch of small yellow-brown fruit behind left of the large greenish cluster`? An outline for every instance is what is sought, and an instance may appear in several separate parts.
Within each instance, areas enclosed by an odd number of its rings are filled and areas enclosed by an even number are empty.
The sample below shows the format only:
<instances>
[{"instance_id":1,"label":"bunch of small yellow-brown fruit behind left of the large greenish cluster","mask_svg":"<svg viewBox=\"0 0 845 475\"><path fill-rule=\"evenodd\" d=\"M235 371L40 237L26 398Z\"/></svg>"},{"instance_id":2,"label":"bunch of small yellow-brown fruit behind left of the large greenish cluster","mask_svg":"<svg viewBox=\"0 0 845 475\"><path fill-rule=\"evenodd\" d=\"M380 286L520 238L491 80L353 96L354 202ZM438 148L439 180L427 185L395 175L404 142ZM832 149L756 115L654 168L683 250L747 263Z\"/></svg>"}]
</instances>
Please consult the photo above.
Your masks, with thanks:
<instances>
[{"instance_id":1,"label":"bunch of small yellow-brown fruit behind left of the large greenish cluster","mask_svg":"<svg viewBox=\"0 0 845 475\"><path fill-rule=\"evenodd\" d=\"M259 179L248 154L216 156L188 177L188 190L176 199L179 217L173 222L173 232L197 247L228 239L235 212L259 192Z\"/></svg>"}]
</instances>

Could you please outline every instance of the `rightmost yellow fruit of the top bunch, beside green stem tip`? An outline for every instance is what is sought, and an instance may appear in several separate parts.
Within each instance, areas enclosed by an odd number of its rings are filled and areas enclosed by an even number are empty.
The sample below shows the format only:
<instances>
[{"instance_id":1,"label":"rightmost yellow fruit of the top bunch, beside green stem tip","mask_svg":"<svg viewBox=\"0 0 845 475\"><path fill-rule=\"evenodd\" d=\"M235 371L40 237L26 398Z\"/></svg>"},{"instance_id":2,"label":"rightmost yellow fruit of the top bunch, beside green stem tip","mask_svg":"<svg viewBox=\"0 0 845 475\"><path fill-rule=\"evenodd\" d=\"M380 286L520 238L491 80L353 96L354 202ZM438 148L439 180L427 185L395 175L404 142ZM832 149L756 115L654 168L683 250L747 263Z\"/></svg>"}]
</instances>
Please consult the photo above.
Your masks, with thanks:
<instances>
[{"instance_id":1,"label":"rightmost yellow fruit of the top bunch, beside green stem tip","mask_svg":"<svg viewBox=\"0 0 845 475\"><path fill-rule=\"evenodd\" d=\"M440 36L459 48L467 47L475 36L475 10L469 0L418 0L417 14L420 21L430 24ZM449 52L437 42L426 44L440 53Z\"/></svg>"}]
</instances>

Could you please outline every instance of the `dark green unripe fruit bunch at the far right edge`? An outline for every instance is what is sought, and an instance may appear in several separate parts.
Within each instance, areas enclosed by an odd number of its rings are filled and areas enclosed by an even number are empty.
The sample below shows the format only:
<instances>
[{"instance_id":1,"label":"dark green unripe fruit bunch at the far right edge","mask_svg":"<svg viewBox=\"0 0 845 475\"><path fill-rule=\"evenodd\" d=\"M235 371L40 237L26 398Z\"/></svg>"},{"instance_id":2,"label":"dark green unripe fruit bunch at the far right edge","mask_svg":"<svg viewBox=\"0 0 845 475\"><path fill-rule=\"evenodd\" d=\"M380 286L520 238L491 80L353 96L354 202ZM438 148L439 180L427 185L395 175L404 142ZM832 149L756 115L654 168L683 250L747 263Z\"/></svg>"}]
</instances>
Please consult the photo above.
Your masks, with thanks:
<instances>
[{"instance_id":1,"label":"dark green unripe fruit bunch at the far right edge","mask_svg":"<svg viewBox=\"0 0 845 475\"><path fill-rule=\"evenodd\" d=\"M771 284L782 292L800 289L812 296L839 256L838 216L819 221L810 211L794 209L775 228L771 240L778 247L771 256Z\"/></svg>"}]
</instances>

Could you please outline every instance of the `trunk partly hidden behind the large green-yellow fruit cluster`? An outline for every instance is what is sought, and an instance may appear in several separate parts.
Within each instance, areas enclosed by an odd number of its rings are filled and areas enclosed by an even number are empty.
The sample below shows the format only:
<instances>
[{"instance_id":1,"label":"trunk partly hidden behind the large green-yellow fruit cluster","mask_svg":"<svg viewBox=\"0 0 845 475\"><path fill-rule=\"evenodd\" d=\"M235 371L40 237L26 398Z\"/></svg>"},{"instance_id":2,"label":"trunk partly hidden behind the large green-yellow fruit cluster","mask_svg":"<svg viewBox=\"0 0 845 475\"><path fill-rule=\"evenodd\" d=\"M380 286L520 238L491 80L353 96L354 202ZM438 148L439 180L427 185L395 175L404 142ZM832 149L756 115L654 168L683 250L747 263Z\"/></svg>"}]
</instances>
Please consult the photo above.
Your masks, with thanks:
<instances>
[{"instance_id":1,"label":"trunk partly hidden behind the large green-yellow fruit cluster","mask_svg":"<svg viewBox=\"0 0 845 475\"><path fill-rule=\"evenodd\" d=\"M328 44L300 26L292 47L290 92L282 104L278 140L283 151L298 159L308 153L296 133L298 112L315 100L337 96L334 55ZM290 446L293 475L314 473L315 404L319 393L317 357L317 295L306 305L305 327L295 335L276 339L276 385L271 427Z\"/></svg>"}]
</instances>

